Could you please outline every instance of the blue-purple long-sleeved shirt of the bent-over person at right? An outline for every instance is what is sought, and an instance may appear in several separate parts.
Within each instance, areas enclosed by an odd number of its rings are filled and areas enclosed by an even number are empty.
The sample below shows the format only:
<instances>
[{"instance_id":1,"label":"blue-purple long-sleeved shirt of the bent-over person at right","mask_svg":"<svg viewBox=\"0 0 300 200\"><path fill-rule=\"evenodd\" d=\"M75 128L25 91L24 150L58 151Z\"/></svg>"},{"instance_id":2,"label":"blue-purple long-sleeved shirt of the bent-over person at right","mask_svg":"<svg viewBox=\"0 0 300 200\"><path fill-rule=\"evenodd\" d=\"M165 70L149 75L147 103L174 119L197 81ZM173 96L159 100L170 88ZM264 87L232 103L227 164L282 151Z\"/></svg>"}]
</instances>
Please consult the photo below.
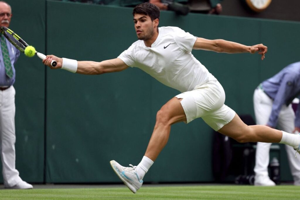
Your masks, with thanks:
<instances>
[{"instance_id":1,"label":"blue-purple long-sleeved shirt of the bent-over person at right","mask_svg":"<svg viewBox=\"0 0 300 200\"><path fill-rule=\"evenodd\" d=\"M276 127L283 104L287 106L300 95L300 62L284 67L275 76L262 82L264 92L273 100L267 125ZM296 110L295 127L300 127L300 106Z\"/></svg>"}]
</instances>

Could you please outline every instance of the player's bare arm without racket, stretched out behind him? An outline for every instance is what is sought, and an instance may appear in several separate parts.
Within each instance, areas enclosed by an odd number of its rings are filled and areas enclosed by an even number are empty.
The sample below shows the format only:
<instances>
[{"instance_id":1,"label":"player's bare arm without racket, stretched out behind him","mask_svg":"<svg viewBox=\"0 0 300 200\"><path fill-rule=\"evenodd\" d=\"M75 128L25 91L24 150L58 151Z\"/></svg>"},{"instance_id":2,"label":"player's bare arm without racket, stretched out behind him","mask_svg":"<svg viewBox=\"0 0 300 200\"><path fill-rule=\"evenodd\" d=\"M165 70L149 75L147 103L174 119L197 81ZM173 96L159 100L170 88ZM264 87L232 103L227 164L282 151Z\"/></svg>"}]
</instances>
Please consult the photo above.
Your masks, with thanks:
<instances>
[{"instance_id":1,"label":"player's bare arm without racket, stretched out behind him","mask_svg":"<svg viewBox=\"0 0 300 200\"><path fill-rule=\"evenodd\" d=\"M265 58L265 53L268 51L268 47L263 44L256 44L253 46L246 46L236 42L230 42L222 39L218 40L208 40L198 37L193 49L202 49L214 52L224 52L224 53L256 53L262 55L261 59Z\"/></svg>"}]
</instances>

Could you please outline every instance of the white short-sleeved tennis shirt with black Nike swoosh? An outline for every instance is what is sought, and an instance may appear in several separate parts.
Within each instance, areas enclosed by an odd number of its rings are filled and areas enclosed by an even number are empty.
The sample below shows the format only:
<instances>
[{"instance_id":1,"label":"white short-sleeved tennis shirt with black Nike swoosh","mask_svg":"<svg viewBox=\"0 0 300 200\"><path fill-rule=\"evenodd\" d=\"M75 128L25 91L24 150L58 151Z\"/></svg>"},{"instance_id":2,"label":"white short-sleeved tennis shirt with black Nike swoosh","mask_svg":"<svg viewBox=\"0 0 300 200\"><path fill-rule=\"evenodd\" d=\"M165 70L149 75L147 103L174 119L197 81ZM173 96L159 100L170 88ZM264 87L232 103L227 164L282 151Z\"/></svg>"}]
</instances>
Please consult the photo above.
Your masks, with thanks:
<instances>
[{"instance_id":1,"label":"white short-sleeved tennis shirt with black Nike swoosh","mask_svg":"<svg viewBox=\"0 0 300 200\"><path fill-rule=\"evenodd\" d=\"M217 80L191 53L197 37L178 27L160 27L158 30L158 37L151 47L138 40L118 58L181 92Z\"/></svg>"}]
</instances>

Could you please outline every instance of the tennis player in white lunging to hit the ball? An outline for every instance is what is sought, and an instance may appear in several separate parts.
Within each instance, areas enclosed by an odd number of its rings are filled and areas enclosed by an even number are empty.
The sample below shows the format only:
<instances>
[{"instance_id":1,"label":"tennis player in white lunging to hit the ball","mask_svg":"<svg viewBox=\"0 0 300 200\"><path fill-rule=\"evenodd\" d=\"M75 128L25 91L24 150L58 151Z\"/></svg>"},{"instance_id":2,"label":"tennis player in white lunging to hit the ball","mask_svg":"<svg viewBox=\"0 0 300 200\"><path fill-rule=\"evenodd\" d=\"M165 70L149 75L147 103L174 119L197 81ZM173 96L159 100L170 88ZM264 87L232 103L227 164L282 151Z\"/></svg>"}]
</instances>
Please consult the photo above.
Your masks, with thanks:
<instances>
[{"instance_id":1,"label":"tennis player in white lunging to hit the ball","mask_svg":"<svg viewBox=\"0 0 300 200\"><path fill-rule=\"evenodd\" d=\"M225 53L258 52L263 60L267 52L266 46L245 46L226 40L207 40L195 37L178 27L158 28L160 10L150 3L137 5L133 16L139 40L118 58L93 62L48 55L43 60L45 65L50 66L53 59L58 62L55 68L81 74L102 74L139 67L164 85L181 92L157 112L149 145L139 165L124 167L114 160L110 161L113 170L133 193L142 186L144 175L167 144L171 125L177 122L189 123L201 117L211 128L238 142L283 143L299 151L299 135L264 125L244 124L224 104L223 87L191 53L193 49Z\"/></svg>"}]
</instances>

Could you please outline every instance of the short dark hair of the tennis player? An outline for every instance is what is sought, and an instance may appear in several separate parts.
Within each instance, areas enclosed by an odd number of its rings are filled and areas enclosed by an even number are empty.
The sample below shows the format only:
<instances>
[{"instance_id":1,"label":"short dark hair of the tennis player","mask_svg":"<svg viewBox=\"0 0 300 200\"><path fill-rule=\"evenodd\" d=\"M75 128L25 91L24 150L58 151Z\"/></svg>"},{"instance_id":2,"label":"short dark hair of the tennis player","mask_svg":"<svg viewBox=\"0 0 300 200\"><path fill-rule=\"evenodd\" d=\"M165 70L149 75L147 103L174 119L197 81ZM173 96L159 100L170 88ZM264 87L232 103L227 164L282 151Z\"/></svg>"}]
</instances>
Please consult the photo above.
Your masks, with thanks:
<instances>
[{"instance_id":1,"label":"short dark hair of the tennis player","mask_svg":"<svg viewBox=\"0 0 300 200\"><path fill-rule=\"evenodd\" d=\"M151 18L151 21L153 21L154 19L159 19L160 10L156 5L146 2L146 3L137 5L133 9L132 14L133 14L133 16L135 14L148 15Z\"/></svg>"}]
</instances>

